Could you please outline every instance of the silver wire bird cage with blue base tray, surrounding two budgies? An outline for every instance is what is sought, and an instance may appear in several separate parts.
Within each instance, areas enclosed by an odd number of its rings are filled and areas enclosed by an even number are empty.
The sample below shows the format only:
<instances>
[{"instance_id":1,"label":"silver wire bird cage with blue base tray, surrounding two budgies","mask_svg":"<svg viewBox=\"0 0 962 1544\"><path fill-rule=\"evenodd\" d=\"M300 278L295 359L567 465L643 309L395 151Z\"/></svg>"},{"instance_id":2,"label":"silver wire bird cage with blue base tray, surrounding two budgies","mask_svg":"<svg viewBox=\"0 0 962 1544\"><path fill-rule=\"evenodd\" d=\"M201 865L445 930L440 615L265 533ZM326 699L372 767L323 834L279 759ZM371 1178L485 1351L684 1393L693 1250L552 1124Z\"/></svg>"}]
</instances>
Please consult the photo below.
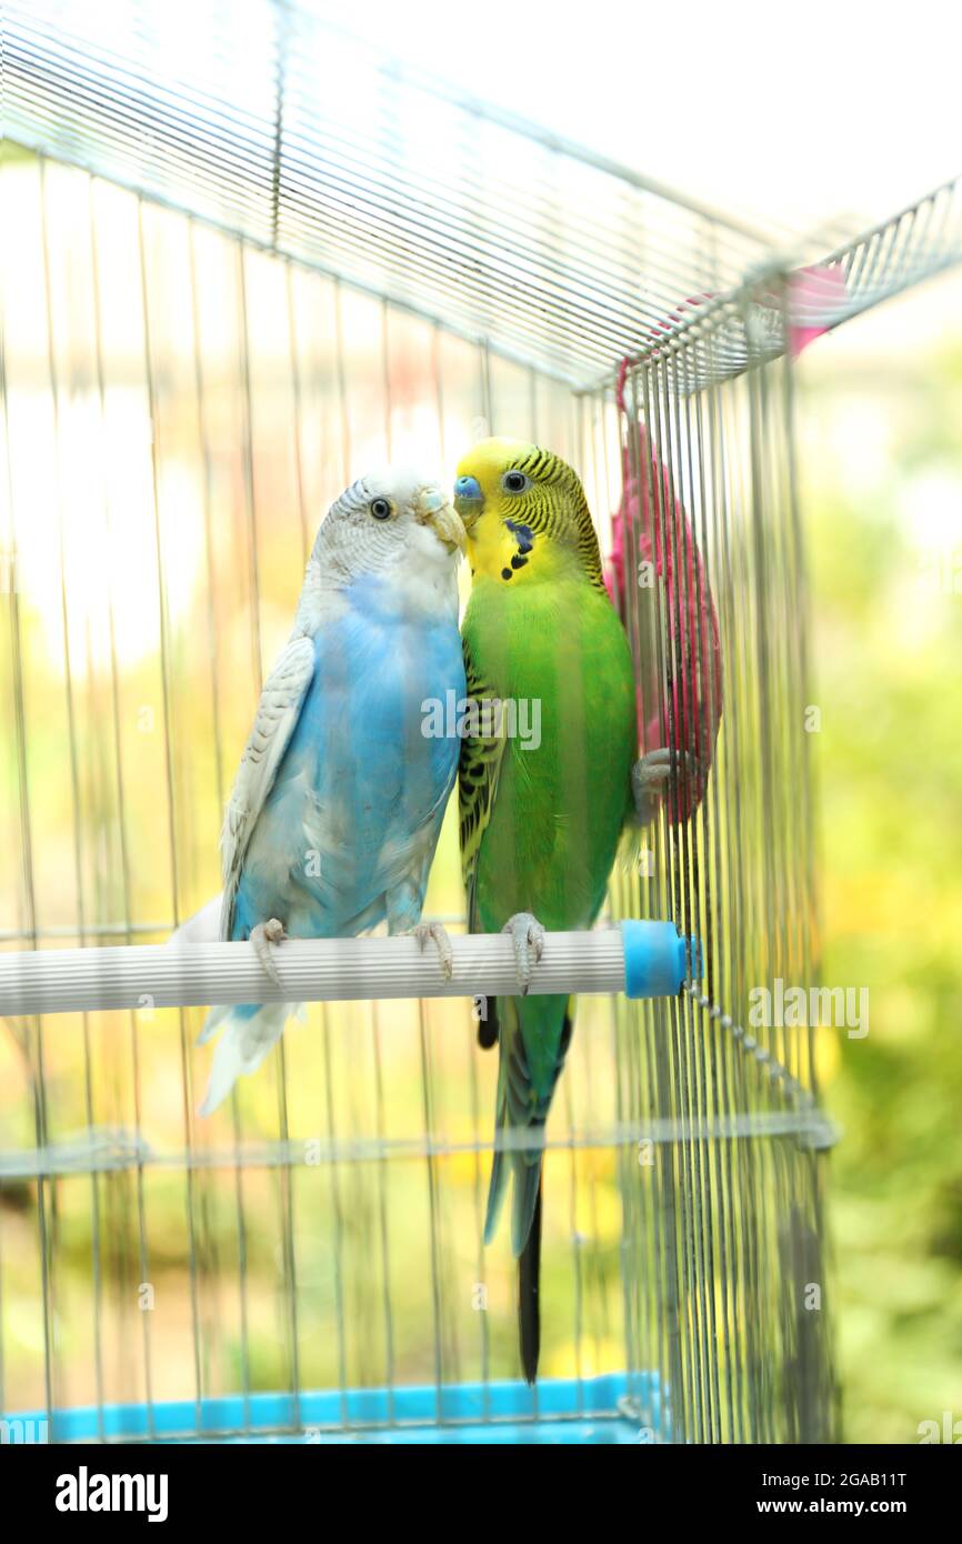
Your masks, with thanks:
<instances>
[{"instance_id":1,"label":"silver wire bird cage with blue base tray, surrounding two budgies","mask_svg":"<svg viewBox=\"0 0 962 1544\"><path fill-rule=\"evenodd\" d=\"M831 1437L818 1019L755 1011L818 985L792 363L957 258L957 191L786 252L295 5L182 25L5 6L5 1437ZM533 1388L482 1244L494 943L389 1001L392 945L344 945L208 1119L219 999L168 943L323 513L486 434L582 476L675 752L604 925L559 936ZM452 812L426 914L463 931ZM676 994L616 990L622 919L695 940Z\"/></svg>"}]
</instances>

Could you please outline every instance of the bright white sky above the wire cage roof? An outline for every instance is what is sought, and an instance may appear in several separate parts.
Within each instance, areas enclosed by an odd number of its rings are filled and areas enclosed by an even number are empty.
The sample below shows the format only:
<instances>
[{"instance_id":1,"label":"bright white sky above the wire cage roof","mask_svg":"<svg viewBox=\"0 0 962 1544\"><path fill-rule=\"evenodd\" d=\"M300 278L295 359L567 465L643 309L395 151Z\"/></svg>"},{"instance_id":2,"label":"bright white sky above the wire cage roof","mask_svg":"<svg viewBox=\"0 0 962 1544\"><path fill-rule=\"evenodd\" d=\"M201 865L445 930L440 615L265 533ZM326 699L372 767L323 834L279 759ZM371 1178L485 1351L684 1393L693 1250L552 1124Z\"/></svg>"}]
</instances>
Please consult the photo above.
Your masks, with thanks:
<instances>
[{"instance_id":1,"label":"bright white sky above the wire cage roof","mask_svg":"<svg viewBox=\"0 0 962 1544\"><path fill-rule=\"evenodd\" d=\"M465 93L716 208L809 230L886 219L959 171L960 23L866 5L312 0ZM590 15L590 20L588 20Z\"/></svg>"}]
</instances>

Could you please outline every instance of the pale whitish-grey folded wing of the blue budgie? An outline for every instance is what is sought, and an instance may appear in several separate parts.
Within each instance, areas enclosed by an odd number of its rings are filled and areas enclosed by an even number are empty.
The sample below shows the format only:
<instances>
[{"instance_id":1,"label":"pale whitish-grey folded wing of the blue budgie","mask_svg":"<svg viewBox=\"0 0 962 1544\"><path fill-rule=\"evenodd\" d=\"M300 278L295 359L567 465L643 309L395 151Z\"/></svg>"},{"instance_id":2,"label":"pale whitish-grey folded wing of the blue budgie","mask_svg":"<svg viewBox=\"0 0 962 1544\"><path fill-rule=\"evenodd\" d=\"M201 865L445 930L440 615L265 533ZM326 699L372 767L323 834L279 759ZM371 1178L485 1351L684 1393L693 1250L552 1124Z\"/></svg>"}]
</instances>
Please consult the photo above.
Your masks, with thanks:
<instances>
[{"instance_id":1,"label":"pale whitish-grey folded wing of the blue budgie","mask_svg":"<svg viewBox=\"0 0 962 1544\"><path fill-rule=\"evenodd\" d=\"M224 874L221 939L230 939L244 854L301 715L313 670L313 639L300 635L290 639L264 682L221 831Z\"/></svg>"}]
</instances>

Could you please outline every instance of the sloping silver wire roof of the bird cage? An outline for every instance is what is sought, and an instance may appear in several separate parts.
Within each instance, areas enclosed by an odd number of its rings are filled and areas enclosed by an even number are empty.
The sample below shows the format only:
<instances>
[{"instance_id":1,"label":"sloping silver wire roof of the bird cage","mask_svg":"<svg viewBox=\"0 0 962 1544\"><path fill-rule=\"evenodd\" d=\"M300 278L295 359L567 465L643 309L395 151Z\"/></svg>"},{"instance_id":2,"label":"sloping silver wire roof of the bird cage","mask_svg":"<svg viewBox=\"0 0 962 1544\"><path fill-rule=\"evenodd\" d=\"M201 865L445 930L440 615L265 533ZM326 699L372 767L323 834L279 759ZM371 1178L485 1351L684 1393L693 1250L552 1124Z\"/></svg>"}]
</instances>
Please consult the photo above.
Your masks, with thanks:
<instances>
[{"instance_id":1,"label":"sloping silver wire roof of the bird cage","mask_svg":"<svg viewBox=\"0 0 962 1544\"><path fill-rule=\"evenodd\" d=\"M786 346L778 306L752 332L730 301L789 264L784 232L463 96L304 5L247 0L241 26L225 0L6 0L0 48L12 141L576 386L709 320L724 347L703 350L699 380L744 367L757 340ZM922 227L903 239L905 216L891 242L888 227L862 238L860 287L795 289L800 324L957 261L957 185L940 193L925 242ZM859 278L857 245L821 262Z\"/></svg>"}]
</instances>

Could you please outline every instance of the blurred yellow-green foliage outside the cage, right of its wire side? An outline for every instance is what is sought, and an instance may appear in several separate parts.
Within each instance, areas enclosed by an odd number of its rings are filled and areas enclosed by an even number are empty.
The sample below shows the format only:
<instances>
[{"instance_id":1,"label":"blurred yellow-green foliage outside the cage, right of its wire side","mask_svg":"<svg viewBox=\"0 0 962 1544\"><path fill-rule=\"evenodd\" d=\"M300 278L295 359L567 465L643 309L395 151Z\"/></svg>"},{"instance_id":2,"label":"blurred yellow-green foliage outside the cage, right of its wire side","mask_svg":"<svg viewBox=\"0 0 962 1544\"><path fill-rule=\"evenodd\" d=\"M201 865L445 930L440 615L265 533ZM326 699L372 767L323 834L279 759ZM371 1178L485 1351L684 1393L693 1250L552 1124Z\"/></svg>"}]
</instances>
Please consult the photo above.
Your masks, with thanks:
<instances>
[{"instance_id":1,"label":"blurred yellow-green foliage outside the cage, right of its wire side","mask_svg":"<svg viewBox=\"0 0 962 1544\"><path fill-rule=\"evenodd\" d=\"M828 1085L851 1442L962 1419L962 347L849 367L883 315L812 350L801 414L823 973L871 1004Z\"/></svg>"}]
</instances>

